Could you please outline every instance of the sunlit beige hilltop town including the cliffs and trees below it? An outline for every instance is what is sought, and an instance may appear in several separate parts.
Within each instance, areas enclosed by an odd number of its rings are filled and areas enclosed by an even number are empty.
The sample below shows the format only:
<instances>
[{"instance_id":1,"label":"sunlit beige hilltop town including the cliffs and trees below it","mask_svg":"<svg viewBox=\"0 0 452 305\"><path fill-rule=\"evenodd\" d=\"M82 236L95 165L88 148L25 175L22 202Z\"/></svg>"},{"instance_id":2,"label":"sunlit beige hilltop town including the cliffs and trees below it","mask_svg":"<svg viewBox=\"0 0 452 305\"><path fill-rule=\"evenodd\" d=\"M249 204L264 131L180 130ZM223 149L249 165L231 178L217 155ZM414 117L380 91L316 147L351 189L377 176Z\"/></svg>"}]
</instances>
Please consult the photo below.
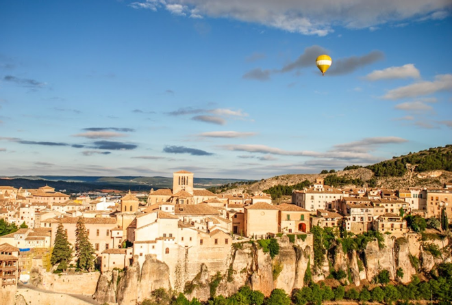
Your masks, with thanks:
<instances>
[{"instance_id":1,"label":"sunlit beige hilltop town including the cliffs and trees below it","mask_svg":"<svg viewBox=\"0 0 452 305\"><path fill-rule=\"evenodd\" d=\"M293 185L0 186L1 304L451 304L452 181Z\"/></svg>"}]
</instances>

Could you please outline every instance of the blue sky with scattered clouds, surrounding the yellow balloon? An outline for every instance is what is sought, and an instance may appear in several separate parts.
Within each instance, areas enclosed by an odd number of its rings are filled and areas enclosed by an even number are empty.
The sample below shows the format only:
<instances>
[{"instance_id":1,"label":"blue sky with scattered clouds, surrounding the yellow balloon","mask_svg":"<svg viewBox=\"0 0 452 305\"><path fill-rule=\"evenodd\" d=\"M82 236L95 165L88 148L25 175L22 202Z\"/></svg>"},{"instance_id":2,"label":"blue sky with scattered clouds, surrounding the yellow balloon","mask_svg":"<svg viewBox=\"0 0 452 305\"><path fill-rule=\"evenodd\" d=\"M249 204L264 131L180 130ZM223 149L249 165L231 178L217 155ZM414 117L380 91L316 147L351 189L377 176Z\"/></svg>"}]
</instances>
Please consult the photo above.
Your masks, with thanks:
<instances>
[{"instance_id":1,"label":"blue sky with scattered clouds, surrounding the yellow balloon","mask_svg":"<svg viewBox=\"0 0 452 305\"><path fill-rule=\"evenodd\" d=\"M451 144L451 12L444 0L1 1L0 174L260 179Z\"/></svg>"}]
</instances>

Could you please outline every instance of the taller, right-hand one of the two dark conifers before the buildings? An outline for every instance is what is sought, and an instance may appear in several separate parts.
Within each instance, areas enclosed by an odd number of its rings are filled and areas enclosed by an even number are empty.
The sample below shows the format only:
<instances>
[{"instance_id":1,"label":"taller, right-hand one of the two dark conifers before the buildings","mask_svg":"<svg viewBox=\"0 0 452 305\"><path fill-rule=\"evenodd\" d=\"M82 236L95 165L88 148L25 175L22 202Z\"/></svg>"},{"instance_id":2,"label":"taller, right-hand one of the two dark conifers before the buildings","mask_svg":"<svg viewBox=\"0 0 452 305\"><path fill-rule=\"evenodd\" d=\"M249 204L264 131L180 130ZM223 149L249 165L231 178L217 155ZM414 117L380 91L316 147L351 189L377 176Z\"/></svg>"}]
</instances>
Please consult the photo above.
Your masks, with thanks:
<instances>
[{"instance_id":1,"label":"taller, right-hand one of the two dark conifers before the buildings","mask_svg":"<svg viewBox=\"0 0 452 305\"><path fill-rule=\"evenodd\" d=\"M88 232L83 217L79 217L75 229L75 256L77 257L77 269L90 271L94 267L95 250L88 239Z\"/></svg>"}]
</instances>

